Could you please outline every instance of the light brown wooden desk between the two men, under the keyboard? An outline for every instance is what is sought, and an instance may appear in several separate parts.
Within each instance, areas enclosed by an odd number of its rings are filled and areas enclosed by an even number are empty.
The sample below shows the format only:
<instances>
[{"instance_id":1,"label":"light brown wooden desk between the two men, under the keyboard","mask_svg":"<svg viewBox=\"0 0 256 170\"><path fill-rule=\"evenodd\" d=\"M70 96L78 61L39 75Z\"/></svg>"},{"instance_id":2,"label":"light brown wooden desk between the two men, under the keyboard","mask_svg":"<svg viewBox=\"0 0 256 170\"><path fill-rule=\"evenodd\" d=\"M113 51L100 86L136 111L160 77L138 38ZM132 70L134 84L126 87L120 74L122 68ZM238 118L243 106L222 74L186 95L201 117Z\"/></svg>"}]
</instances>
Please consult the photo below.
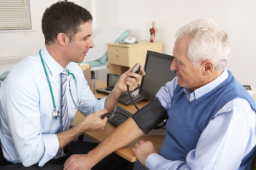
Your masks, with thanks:
<instances>
[{"instance_id":1,"label":"light brown wooden desk between the two men, under the keyboard","mask_svg":"<svg viewBox=\"0 0 256 170\"><path fill-rule=\"evenodd\" d=\"M96 86L96 89L100 89L100 88L106 87L107 83L104 82L104 81L99 81L98 80L98 81L95 81L95 86ZM104 98L105 96L106 95L104 95L104 94L98 94L98 93L95 94L95 97L97 97L97 98ZM146 104L148 104L148 101L145 101L145 100L138 101L136 103L136 105L138 106L139 109L141 109ZM126 105L121 104L119 102L118 102L118 105L123 107L124 109L130 111L132 114L134 114L137 111L137 109L133 105L126 106ZM76 126L77 124L79 124L84 119L85 119L85 116L83 116L80 113L80 111L77 111L77 114L75 115L75 119L72 123L72 126ZM107 124L105 126L105 129L103 131L86 132L84 135L87 136L90 139L93 139L93 141L96 141L96 142L100 143L114 129L115 129L115 127L112 124L107 122ZM132 141L131 144L128 144L127 146L115 151L115 154L118 154L119 156L122 156L124 159L127 159L128 161L134 162L134 161L137 161L137 158L133 154L132 149L135 146L135 144L138 143L138 141L140 141L140 140L151 141L153 143L153 145L155 146L156 150L158 150L158 149L161 148L161 145L163 144L163 139L164 139L164 137L141 136L138 139Z\"/></svg>"}]
</instances>

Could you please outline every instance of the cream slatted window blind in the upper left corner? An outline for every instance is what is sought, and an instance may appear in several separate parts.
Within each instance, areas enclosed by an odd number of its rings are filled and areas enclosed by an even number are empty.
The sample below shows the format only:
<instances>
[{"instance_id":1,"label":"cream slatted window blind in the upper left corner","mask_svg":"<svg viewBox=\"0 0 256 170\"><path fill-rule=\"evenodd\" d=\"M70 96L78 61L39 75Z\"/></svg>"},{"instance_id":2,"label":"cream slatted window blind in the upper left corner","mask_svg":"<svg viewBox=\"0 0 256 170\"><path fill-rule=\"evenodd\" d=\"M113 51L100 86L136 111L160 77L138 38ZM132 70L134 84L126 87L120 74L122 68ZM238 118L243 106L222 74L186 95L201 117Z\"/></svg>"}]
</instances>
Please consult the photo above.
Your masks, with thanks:
<instances>
[{"instance_id":1,"label":"cream slatted window blind in the upper left corner","mask_svg":"<svg viewBox=\"0 0 256 170\"><path fill-rule=\"evenodd\" d=\"M32 29L29 0L0 0L0 31Z\"/></svg>"}]
</instances>

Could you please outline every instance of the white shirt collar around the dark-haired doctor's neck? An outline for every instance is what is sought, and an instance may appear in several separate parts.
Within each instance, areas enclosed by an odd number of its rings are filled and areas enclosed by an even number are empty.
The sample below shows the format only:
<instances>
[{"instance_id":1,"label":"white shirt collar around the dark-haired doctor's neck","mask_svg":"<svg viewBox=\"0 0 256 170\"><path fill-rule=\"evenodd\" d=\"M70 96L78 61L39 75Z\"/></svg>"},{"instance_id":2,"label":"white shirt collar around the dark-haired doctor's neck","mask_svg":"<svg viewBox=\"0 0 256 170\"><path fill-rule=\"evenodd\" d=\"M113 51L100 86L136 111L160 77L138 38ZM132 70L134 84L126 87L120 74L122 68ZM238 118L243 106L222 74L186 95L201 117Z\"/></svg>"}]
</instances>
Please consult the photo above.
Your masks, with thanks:
<instances>
[{"instance_id":1,"label":"white shirt collar around the dark-haired doctor's neck","mask_svg":"<svg viewBox=\"0 0 256 170\"><path fill-rule=\"evenodd\" d=\"M46 46L41 51L42 58L44 59L44 63L47 65L49 71L51 72L52 76L58 76L64 70L60 64L55 61L49 52L46 49Z\"/></svg>"}]
</instances>

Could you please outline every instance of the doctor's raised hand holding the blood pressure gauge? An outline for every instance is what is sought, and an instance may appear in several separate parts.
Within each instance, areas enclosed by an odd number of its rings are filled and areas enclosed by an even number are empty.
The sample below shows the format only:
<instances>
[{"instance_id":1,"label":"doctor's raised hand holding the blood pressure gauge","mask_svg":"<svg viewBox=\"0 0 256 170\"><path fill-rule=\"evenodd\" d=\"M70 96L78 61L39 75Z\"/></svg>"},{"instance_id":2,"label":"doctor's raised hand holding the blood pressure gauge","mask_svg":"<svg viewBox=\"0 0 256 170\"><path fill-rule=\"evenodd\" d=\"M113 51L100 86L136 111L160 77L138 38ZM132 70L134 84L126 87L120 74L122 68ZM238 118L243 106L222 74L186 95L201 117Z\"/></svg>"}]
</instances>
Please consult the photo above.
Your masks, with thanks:
<instances>
[{"instance_id":1,"label":"doctor's raised hand holding the blood pressure gauge","mask_svg":"<svg viewBox=\"0 0 256 170\"><path fill-rule=\"evenodd\" d=\"M137 63L138 64L138 63ZM134 65L136 66L136 65ZM133 66L133 68L134 68ZM141 67L141 74L136 74L133 73L133 68L129 69L128 71L126 71L124 74L122 74L122 76L120 76L120 79L118 81L118 83L115 85L117 86L118 90L120 91L127 91L127 85L129 85L129 91L133 91L134 89L136 89L138 83L140 82L141 78L145 75L145 71L144 69ZM131 78L130 76L135 77Z\"/></svg>"}]
</instances>

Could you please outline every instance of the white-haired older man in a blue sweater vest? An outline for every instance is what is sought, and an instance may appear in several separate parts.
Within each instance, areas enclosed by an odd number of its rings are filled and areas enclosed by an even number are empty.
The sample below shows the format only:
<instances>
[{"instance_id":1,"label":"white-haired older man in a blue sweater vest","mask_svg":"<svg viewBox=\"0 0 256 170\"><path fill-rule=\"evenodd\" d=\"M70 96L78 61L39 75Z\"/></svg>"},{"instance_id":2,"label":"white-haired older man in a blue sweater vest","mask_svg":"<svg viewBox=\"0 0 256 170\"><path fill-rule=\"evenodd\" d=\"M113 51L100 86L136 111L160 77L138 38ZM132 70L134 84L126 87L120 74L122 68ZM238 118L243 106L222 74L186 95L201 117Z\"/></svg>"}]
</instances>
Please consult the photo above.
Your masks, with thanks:
<instances>
[{"instance_id":1,"label":"white-haired older man in a blue sweater vest","mask_svg":"<svg viewBox=\"0 0 256 170\"><path fill-rule=\"evenodd\" d=\"M176 32L173 53L177 76L156 94L169 116L166 138L159 152L140 141L133 153L148 169L252 169L256 105L225 69L227 31L212 19L192 21ZM93 151L70 156L65 169L90 169L141 134L128 119Z\"/></svg>"}]
</instances>

